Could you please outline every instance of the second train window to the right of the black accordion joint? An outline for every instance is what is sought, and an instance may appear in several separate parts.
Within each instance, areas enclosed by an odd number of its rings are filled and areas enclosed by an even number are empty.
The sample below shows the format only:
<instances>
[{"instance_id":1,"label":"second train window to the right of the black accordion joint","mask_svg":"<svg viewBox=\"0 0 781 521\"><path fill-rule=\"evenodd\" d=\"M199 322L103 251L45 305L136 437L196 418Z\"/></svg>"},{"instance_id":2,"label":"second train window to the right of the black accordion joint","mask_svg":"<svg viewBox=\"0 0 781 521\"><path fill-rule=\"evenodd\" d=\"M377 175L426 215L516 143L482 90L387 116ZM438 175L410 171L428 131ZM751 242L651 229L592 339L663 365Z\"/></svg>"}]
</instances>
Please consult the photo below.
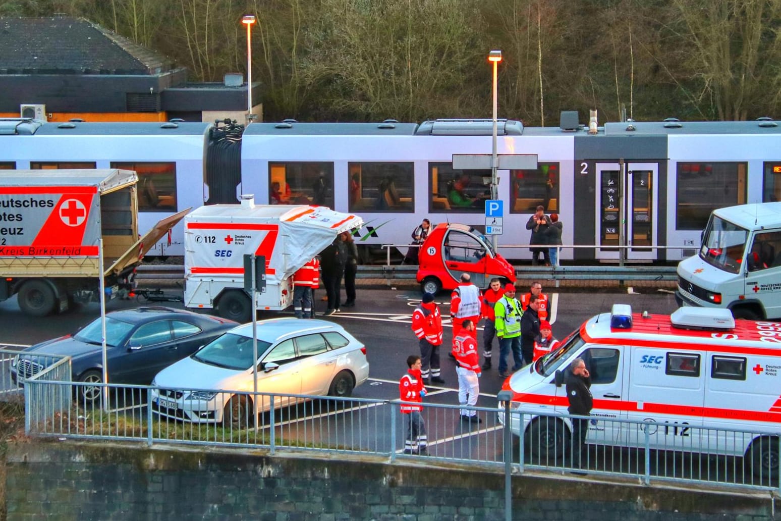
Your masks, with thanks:
<instances>
[{"instance_id":1,"label":"second train window to the right of the black accordion joint","mask_svg":"<svg viewBox=\"0 0 781 521\"><path fill-rule=\"evenodd\" d=\"M349 172L350 212L412 212L412 162L351 162Z\"/></svg>"}]
</instances>

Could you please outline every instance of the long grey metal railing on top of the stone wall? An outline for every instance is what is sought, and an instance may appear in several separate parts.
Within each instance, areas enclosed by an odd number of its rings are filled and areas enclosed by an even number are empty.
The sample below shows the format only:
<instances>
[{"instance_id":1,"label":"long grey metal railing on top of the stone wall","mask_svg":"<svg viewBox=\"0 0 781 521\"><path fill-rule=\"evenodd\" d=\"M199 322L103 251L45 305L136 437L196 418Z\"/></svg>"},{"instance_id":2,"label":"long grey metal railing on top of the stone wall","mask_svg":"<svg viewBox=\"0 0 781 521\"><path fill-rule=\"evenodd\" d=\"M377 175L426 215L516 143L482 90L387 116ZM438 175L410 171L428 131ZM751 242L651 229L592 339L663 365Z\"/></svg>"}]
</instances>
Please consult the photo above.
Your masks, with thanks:
<instances>
[{"instance_id":1,"label":"long grey metal railing on top of the stone wall","mask_svg":"<svg viewBox=\"0 0 781 521\"><path fill-rule=\"evenodd\" d=\"M27 433L266 448L271 453L358 453L386 456L391 462L426 455L475 466L505 464L510 473L533 468L631 477L644 484L673 481L781 492L778 433L694 421L669 424L557 412L545 416L426 402L421 412L426 430L407 444L409 415L401 412L400 401L98 384L108 390L103 394L84 392L87 387L95 384L27 380ZM102 403L104 395L109 396L107 404ZM64 397L70 396L79 398L69 405ZM505 411L511 422L504 422ZM463 418L464 412L480 422ZM572 434L579 421L588 429L582 446ZM511 429L522 436L510 437Z\"/></svg>"}]
</instances>

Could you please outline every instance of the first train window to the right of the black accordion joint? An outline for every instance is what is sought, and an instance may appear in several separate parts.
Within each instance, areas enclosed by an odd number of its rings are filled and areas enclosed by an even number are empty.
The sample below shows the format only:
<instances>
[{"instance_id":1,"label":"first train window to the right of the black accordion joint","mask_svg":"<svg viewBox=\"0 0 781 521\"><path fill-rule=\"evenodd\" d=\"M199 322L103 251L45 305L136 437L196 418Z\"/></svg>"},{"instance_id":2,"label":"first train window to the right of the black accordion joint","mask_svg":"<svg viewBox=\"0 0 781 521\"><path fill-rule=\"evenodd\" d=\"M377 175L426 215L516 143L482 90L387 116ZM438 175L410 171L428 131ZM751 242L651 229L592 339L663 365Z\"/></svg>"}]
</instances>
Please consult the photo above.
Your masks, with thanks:
<instances>
[{"instance_id":1,"label":"first train window to the right of the black accordion joint","mask_svg":"<svg viewBox=\"0 0 781 521\"><path fill-rule=\"evenodd\" d=\"M333 208L333 162L269 162L269 205Z\"/></svg>"}]
</instances>

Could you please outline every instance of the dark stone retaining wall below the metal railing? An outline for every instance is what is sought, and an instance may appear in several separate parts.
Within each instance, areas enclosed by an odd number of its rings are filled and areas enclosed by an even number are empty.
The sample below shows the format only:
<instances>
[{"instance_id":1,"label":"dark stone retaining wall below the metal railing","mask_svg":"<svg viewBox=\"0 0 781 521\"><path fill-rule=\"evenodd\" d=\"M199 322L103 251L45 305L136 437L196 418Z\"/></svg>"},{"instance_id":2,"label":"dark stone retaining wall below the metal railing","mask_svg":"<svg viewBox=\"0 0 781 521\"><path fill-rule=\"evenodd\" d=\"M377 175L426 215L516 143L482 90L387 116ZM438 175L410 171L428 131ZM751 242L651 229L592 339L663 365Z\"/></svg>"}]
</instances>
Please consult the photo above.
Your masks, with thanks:
<instances>
[{"instance_id":1,"label":"dark stone retaining wall below the metal railing","mask_svg":"<svg viewBox=\"0 0 781 521\"><path fill-rule=\"evenodd\" d=\"M137 444L12 444L8 521L55 519L504 519L501 469L420 459L340 461L215 448ZM2 487L0 487L2 488ZM596 477L515 476L514 519L662 521L772 516L769 494L608 484Z\"/></svg>"}]
</instances>

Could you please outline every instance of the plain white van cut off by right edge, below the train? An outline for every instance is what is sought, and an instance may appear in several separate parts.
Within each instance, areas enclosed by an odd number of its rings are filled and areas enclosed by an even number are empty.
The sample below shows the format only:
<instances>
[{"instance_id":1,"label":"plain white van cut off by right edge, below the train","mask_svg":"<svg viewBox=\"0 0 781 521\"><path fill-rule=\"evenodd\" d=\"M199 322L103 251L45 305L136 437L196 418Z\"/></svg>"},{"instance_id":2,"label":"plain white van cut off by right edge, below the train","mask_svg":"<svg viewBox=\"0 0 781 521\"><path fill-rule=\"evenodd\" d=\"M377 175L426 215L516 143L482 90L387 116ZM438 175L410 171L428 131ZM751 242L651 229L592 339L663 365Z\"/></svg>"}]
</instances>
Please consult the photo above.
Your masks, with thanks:
<instances>
[{"instance_id":1,"label":"plain white van cut off by right edge, below the train","mask_svg":"<svg viewBox=\"0 0 781 521\"><path fill-rule=\"evenodd\" d=\"M714 210L700 252L678 265L678 305L781 318L781 202Z\"/></svg>"}]
</instances>

